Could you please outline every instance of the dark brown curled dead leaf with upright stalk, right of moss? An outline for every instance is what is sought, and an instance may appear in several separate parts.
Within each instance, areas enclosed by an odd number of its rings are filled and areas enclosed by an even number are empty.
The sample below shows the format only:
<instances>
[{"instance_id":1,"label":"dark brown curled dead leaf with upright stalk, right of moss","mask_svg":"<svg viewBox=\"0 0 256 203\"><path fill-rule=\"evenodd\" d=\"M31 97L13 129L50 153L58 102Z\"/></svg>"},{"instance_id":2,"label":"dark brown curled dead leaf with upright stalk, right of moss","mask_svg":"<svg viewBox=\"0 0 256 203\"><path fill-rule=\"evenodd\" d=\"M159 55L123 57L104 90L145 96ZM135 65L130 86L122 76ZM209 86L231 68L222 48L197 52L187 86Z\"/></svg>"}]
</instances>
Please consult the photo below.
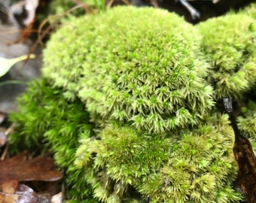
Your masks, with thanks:
<instances>
[{"instance_id":1,"label":"dark brown curled dead leaf with upright stalk, right of moss","mask_svg":"<svg viewBox=\"0 0 256 203\"><path fill-rule=\"evenodd\" d=\"M230 97L224 98L224 106L227 114L230 116L231 125L235 133L235 143L233 145L233 154L238 164L238 174L236 184L242 195L245 196L248 203L256 202L256 158L252 150L251 143L242 135L236 124L236 118L233 115L232 101Z\"/></svg>"}]
</instances>

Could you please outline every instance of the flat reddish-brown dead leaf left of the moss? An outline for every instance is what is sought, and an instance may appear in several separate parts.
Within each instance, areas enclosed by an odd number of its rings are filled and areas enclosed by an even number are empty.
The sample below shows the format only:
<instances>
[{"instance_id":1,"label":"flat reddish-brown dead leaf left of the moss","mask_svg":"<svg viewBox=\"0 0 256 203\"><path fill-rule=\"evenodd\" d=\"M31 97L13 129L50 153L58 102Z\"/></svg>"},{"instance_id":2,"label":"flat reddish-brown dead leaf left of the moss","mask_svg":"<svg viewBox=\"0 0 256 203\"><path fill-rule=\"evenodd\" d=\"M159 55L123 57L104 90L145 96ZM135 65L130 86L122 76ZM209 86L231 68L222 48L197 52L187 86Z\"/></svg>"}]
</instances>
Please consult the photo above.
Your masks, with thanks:
<instances>
[{"instance_id":1,"label":"flat reddish-brown dead leaf left of the moss","mask_svg":"<svg viewBox=\"0 0 256 203\"><path fill-rule=\"evenodd\" d=\"M28 160L26 153L17 154L11 159L0 162L0 184L5 181L56 181L62 178L56 170L53 159L37 157Z\"/></svg>"}]
</instances>

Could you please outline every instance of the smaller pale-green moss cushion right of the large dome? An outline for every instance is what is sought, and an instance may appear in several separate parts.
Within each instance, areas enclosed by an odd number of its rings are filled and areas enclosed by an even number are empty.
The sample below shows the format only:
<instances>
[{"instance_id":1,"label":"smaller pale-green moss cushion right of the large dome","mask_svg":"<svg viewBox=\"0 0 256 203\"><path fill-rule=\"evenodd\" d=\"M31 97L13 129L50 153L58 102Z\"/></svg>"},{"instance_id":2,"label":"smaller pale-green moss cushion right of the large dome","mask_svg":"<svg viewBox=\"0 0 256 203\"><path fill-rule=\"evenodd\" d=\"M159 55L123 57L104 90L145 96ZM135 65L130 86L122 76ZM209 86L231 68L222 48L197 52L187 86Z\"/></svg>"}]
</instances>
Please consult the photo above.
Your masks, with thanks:
<instances>
[{"instance_id":1,"label":"smaller pale-green moss cushion right of the large dome","mask_svg":"<svg viewBox=\"0 0 256 203\"><path fill-rule=\"evenodd\" d=\"M245 14L227 14L200 23L201 47L211 63L207 80L215 98L241 98L256 79L256 22Z\"/></svg>"}]
</instances>

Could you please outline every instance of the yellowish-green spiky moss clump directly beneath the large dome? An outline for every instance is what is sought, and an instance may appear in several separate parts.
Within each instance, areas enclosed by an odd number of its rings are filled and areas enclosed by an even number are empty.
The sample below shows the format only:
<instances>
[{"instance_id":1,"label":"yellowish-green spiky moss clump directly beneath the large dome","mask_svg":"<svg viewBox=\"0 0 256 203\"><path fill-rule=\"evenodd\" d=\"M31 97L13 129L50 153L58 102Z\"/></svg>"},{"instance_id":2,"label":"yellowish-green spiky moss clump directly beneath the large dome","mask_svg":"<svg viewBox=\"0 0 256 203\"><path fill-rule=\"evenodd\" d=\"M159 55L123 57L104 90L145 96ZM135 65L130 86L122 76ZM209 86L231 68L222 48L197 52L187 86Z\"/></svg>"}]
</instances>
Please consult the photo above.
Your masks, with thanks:
<instances>
[{"instance_id":1,"label":"yellowish-green spiky moss clump directly beneath the large dome","mask_svg":"<svg viewBox=\"0 0 256 203\"><path fill-rule=\"evenodd\" d=\"M215 115L196 129L165 136L111 125L99 133L99 138L81 139L75 163L87 171L85 177L100 201L241 200L233 189L236 163L227 115ZM130 195L132 189L136 195Z\"/></svg>"}]
</instances>

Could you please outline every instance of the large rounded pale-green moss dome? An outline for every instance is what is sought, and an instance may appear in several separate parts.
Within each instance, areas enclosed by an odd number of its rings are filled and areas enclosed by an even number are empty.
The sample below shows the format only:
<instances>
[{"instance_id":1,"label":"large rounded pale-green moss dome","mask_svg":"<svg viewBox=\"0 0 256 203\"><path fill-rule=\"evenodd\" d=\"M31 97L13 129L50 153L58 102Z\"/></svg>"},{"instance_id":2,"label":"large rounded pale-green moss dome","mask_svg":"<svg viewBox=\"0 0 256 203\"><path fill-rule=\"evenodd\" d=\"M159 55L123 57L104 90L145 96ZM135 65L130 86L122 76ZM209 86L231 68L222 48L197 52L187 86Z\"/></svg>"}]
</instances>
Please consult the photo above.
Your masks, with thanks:
<instances>
[{"instance_id":1,"label":"large rounded pale-green moss dome","mask_svg":"<svg viewBox=\"0 0 256 203\"><path fill-rule=\"evenodd\" d=\"M92 117L159 134L195 125L212 108L198 38L168 11L117 7L59 29L44 50L43 73L67 98L78 95Z\"/></svg>"}]
</instances>

